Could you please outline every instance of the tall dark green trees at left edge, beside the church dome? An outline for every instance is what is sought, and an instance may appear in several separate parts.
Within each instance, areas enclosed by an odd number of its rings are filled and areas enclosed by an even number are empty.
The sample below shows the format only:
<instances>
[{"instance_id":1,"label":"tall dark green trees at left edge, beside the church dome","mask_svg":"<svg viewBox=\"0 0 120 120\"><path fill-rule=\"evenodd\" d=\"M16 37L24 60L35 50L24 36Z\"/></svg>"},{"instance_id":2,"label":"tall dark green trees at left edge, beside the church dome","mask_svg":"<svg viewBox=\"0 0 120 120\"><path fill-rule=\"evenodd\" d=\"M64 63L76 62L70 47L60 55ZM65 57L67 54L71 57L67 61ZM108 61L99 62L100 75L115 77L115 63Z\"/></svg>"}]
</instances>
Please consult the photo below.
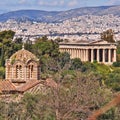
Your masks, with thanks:
<instances>
[{"instance_id":1,"label":"tall dark green trees at left edge, beside the church dome","mask_svg":"<svg viewBox=\"0 0 120 120\"><path fill-rule=\"evenodd\" d=\"M0 32L0 66L4 66L5 60L21 47L19 43L12 41L14 34L11 30Z\"/></svg>"}]
</instances>

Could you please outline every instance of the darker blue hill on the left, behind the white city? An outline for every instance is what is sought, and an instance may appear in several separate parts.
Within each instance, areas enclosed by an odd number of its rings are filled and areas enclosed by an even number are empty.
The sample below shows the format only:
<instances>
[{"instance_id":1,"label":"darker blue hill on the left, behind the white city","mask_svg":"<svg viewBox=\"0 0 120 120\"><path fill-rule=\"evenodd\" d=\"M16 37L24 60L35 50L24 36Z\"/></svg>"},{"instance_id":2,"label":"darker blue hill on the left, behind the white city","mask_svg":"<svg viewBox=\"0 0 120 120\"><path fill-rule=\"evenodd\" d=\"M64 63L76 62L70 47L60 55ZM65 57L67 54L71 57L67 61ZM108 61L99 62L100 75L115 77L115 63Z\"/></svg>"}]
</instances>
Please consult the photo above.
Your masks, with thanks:
<instances>
[{"instance_id":1,"label":"darker blue hill on the left, behind the white city","mask_svg":"<svg viewBox=\"0 0 120 120\"><path fill-rule=\"evenodd\" d=\"M42 10L18 10L12 11L8 13L4 13L0 15L0 22L5 22L9 19L14 19L17 21L45 21L47 19L51 19L53 16L58 14L59 12L48 12Z\"/></svg>"}]
</instances>

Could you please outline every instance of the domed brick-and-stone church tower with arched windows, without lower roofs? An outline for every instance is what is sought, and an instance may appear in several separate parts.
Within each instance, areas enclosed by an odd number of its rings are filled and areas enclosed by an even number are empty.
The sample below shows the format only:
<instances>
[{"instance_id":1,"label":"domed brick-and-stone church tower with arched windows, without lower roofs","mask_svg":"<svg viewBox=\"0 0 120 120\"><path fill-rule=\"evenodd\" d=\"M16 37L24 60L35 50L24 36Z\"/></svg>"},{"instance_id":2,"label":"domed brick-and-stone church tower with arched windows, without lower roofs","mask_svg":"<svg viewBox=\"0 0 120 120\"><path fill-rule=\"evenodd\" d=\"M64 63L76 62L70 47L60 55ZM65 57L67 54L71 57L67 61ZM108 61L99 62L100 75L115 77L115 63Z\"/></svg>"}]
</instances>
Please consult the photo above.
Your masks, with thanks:
<instances>
[{"instance_id":1,"label":"domed brick-and-stone church tower with arched windows, without lower roofs","mask_svg":"<svg viewBox=\"0 0 120 120\"><path fill-rule=\"evenodd\" d=\"M39 59L25 50L24 46L6 60L5 66L6 80L11 81L16 86L40 79Z\"/></svg>"}]
</instances>

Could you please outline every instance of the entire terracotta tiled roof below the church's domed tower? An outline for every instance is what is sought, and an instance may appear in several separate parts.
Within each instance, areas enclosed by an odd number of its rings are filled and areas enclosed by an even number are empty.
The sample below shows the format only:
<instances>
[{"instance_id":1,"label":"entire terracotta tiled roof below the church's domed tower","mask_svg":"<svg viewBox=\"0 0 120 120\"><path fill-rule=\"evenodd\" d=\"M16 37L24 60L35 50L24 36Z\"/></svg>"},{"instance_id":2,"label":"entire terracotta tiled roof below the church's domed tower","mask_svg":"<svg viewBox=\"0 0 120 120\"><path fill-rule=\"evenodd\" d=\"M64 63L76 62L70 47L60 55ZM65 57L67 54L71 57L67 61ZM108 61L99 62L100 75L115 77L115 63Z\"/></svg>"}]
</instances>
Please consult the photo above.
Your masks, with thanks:
<instances>
[{"instance_id":1,"label":"entire terracotta tiled roof below the church's domed tower","mask_svg":"<svg viewBox=\"0 0 120 120\"><path fill-rule=\"evenodd\" d=\"M47 80L30 80L20 87L15 87L15 85L9 80L0 81L0 93L1 92L20 92L24 93L27 90L35 87L38 84L43 84L48 87L57 88L57 83L52 79Z\"/></svg>"}]
</instances>

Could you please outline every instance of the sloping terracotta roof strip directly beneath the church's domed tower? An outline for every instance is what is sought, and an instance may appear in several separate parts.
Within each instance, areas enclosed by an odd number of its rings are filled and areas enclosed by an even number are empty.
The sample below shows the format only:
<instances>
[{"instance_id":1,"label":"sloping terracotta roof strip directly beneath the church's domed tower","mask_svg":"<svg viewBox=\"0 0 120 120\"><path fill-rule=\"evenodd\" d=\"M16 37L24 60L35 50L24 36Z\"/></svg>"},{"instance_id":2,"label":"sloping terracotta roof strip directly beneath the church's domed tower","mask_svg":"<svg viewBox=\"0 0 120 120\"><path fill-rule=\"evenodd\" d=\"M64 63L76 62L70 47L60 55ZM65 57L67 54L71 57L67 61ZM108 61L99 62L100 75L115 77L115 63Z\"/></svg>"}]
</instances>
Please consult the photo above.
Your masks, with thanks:
<instances>
[{"instance_id":1,"label":"sloping terracotta roof strip directly beneath the church's domed tower","mask_svg":"<svg viewBox=\"0 0 120 120\"><path fill-rule=\"evenodd\" d=\"M23 86L17 88L17 91L23 93L23 92L29 90L30 88L33 88L34 86L36 86L39 83L42 83L42 81L41 80L31 80L31 81L25 83Z\"/></svg>"}]
</instances>

